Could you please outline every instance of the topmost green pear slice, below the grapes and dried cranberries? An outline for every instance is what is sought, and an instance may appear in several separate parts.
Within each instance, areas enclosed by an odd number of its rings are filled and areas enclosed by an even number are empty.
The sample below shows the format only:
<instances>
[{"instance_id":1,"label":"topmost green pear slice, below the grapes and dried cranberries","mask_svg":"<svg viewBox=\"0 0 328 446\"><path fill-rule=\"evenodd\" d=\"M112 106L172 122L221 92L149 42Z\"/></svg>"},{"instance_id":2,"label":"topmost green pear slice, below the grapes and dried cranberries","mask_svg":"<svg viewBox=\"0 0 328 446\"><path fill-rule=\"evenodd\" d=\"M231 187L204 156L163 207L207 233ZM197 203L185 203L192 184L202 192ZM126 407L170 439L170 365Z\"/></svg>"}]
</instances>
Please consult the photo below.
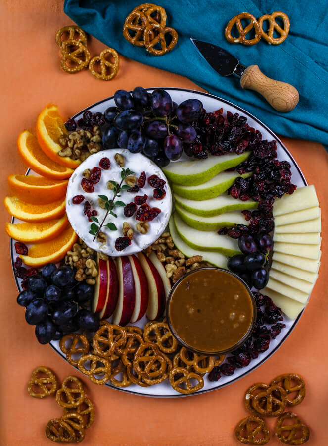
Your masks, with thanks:
<instances>
[{"instance_id":1,"label":"topmost green pear slice, below the grapes and dried cranberries","mask_svg":"<svg viewBox=\"0 0 328 446\"><path fill-rule=\"evenodd\" d=\"M244 152L241 155L228 153L218 157L210 156L206 160L178 161L170 163L162 170L167 178L175 184L197 186L210 180L223 170L238 166L249 155L250 152Z\"/></svg>"}]
</instances>

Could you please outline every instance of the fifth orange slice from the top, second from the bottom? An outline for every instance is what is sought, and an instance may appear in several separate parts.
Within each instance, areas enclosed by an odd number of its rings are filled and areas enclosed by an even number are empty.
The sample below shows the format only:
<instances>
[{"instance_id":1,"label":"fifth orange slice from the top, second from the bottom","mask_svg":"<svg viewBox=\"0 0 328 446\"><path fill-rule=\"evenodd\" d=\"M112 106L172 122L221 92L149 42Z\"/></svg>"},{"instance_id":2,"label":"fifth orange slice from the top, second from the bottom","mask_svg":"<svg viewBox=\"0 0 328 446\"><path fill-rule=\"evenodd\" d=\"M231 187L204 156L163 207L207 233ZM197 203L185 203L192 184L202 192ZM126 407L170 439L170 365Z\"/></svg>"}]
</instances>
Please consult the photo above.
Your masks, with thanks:
<instances>
[{"instance_id":1,"label":"fifth orange slice from the top, second from the bottom","mask_svg":"<svg viewBox=\"0 0 328 446\"><path fill-rule=\"evenodd\" d=\"M61 219L40 223L6 223L5 230L9 237L25 243L52 240L67 226L68 219L64 215Z\"/></svg>"}]
</instances>

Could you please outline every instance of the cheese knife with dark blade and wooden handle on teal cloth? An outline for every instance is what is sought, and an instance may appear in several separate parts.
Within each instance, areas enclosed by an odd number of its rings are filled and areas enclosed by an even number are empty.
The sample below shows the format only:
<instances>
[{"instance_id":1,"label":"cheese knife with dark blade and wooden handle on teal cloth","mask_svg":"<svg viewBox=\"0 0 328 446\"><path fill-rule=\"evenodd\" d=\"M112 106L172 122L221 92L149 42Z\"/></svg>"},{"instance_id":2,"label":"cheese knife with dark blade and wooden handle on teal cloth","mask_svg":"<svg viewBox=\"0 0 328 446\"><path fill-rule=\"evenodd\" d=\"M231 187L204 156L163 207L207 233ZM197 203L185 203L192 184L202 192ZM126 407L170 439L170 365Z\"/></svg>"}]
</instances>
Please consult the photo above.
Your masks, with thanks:
<instances>
[{"instance_id":1,"label":"cheese knife with dark blade and wooden handle on teal cloth","mask_svg":"<svg viewBox=\"0 0 328 446\"><path fill-rule=\"evenodd\" d=\"M299 94L292 85L267 77L258 65L248 67L242 65L238 59L221 47L201 40L190 40L207 63L221 76L234 74L239 77L242 88L260 93L278 111L287 112L296 107Z\"/></svg>"}]
</instances>

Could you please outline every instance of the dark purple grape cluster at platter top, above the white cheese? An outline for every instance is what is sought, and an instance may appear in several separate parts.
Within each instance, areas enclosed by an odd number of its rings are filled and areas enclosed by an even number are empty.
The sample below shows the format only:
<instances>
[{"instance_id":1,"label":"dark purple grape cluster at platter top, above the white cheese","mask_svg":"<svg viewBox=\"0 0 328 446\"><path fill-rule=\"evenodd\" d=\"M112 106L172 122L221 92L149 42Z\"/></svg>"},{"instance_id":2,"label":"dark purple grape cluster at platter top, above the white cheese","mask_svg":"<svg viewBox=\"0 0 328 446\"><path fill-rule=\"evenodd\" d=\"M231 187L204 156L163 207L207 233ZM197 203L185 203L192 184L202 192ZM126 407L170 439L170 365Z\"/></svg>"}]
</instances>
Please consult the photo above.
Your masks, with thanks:
<instances>
[{"instance_id":1,"label":"dark purple grape cluster at platter top, above the white cheese","mask_svg":"<svg viewBox=\"0 0 328 446\"><path fill-rule=\"evenodd\" d=\"M161 88L148 93L136 87L132 95L117 90L114 101L116 107L109 107L103 115L108 124L102 136L105 149L120 147L132 153L142 152L164 167L178 160L185 145L197 136L191 123L203 110L198 99L187 99L178 105Z\"/></svg>"}]
</instances>

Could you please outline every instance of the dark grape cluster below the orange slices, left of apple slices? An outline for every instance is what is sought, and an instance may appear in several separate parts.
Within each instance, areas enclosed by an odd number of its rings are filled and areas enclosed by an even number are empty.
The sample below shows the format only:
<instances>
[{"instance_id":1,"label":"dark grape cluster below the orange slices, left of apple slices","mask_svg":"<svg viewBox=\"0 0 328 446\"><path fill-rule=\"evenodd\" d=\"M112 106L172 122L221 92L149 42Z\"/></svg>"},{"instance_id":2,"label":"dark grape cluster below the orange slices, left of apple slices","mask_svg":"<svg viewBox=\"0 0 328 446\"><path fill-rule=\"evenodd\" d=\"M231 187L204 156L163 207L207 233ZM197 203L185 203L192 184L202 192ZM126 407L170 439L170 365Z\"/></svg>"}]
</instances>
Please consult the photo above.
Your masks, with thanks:
<instances>
[{"instance_id":1,"label":"dark grape cluster below the orange slices, left of apple slices","mask_svg":"<svg viewBox=\"0 0 328 446\"><path fill-rule=\"evenodd\" d=\"M41 273L27 279L27 287L17 297L17 303L26 307L26 322L35 325L35 335L41 344L79 329L99 328L99 317L81 308L93 298L94 286L77 282L74 276L74 269L48 263Z\"/></svg>"}]
</instances>

